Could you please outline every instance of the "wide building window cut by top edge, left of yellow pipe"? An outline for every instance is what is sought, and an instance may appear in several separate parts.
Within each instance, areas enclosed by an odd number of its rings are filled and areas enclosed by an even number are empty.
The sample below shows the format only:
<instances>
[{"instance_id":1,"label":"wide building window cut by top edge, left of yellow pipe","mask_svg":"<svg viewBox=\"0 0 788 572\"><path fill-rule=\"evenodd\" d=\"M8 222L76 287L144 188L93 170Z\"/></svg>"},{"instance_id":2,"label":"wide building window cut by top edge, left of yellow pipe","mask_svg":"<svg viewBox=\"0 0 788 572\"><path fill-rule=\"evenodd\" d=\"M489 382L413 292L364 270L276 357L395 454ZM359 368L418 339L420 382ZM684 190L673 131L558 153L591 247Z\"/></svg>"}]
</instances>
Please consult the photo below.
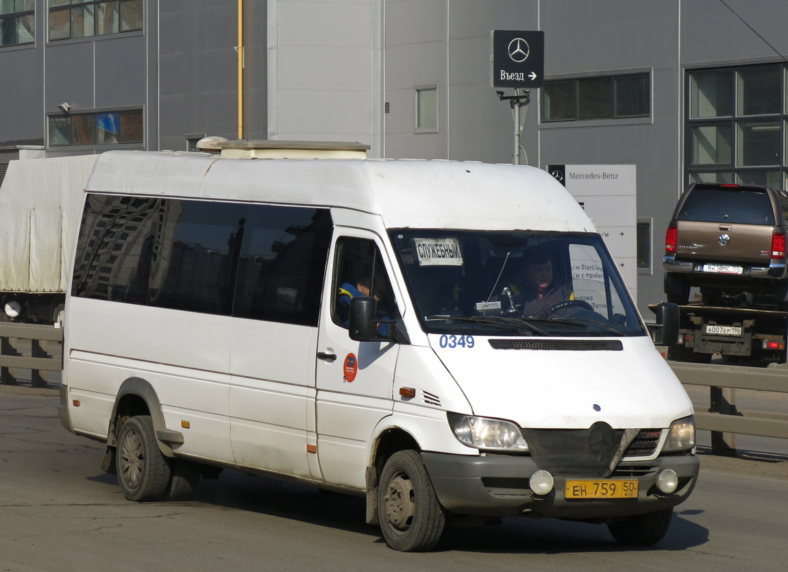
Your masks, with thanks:
<instances>
[{"instance_id":1,"label":"wide building window cut by top edge, left of yellow pipe","mask_svg":"<svg viewBox=\"0 0 788 572\"><path fill-rule=\"evenodd\" d=\"M143 28L143 0L49 0L49 6L50 42Z\"/></svg>"}]
</instances>

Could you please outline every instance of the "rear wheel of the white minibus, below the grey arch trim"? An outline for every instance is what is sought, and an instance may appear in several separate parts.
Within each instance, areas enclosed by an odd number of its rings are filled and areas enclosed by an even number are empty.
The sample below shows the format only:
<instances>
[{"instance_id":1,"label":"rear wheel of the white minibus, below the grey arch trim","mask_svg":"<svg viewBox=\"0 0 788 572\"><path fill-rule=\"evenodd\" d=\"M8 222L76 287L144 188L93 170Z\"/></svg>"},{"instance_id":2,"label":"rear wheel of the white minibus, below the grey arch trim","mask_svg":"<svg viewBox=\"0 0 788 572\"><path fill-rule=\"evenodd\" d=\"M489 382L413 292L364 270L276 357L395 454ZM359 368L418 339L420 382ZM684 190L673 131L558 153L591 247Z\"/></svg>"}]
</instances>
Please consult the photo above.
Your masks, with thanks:
<instances>
[{"instance_id":1,"label":"rear wheel of the white minibus, below the grey arch trim","mask_svg":"<svg viewBox=\"0 0 788 572\"><path fill-rule=\"evenodd\" d=\"M169 490L172 471L158 450L150 415L128 418L117 437L117 481L128 500L161 500Z\"/></svg>"}]
</instances>

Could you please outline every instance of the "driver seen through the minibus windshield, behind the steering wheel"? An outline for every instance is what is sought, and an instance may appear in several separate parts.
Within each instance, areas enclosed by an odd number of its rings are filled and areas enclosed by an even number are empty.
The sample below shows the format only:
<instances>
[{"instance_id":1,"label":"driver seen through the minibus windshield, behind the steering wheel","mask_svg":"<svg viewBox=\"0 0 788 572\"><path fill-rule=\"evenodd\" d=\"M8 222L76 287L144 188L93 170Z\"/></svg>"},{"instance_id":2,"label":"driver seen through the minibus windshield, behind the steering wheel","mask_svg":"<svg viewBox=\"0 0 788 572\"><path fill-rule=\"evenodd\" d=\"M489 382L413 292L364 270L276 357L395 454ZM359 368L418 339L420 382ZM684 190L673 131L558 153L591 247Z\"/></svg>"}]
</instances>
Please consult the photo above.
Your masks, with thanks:
<instances>
[{"instance_id":1,"label":"driver seen through the minibus windshield, behind the steering wheel","mask_svg":"<svg viewBox=\"0 0 788 572\"><path fill-rule=\"evenodd\" d=\"M538 247L528 247L522 253L525 264L516 284L510 284L513 294L522 295L522 315L526 318L546 318L546 310L556 304L574 300L571 283L553 284L552 261L549 254ZM570 309L556 310L553 317L561 317Z\"/></svg>"}]
</instances>

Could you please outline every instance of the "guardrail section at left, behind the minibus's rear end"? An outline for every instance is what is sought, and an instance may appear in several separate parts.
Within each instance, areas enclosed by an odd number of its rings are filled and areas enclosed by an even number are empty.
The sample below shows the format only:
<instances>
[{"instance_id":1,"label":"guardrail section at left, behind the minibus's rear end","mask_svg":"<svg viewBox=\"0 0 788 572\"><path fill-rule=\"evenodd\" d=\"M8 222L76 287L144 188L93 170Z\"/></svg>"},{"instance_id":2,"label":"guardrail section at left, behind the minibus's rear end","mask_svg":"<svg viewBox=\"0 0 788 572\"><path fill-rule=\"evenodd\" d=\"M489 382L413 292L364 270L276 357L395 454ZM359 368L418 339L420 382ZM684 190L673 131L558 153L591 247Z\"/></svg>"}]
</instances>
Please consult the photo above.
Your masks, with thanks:
<instances>
[{"instance_id":1,"label":"guardrail section at left, behind the minibus's rear end","mask_svg":"<svg viewBox=\"0 0 788 572\"><path fill-rule=\"evenodd\" d=\"M20 340L30 340L30 351L21 353ZM63 369L63 330L52 325L0 323L0 384L16 385L16 371L31 370L34 388L46 387L46 376L42 372ZM50 356L48 344L58 343L56 355ZM45 347L46 346L46 347Z\"/></svg>"}]
</instances>

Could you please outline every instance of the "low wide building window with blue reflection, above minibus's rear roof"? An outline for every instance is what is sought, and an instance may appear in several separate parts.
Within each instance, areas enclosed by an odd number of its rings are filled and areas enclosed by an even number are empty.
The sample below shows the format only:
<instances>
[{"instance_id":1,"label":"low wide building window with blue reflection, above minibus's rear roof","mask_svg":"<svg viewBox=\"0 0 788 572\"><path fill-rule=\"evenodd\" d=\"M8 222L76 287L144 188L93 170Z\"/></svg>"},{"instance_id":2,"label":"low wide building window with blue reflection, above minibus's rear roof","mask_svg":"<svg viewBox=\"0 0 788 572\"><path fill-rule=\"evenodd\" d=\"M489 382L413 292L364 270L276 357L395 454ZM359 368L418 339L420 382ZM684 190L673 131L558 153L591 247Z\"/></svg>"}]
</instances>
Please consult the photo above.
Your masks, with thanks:
<instances>
[{"instance_id":1,"label":"low wide building window with blue reflection, above minibus's rear roof","mask_svg":"<svg viewBox=\"0 0 788 572\"><path fill-rule=\"evenodd\" d=\"M142 142L142 111L72 113L49 118L50 147Z\"/></svg>"}]
</instances>

